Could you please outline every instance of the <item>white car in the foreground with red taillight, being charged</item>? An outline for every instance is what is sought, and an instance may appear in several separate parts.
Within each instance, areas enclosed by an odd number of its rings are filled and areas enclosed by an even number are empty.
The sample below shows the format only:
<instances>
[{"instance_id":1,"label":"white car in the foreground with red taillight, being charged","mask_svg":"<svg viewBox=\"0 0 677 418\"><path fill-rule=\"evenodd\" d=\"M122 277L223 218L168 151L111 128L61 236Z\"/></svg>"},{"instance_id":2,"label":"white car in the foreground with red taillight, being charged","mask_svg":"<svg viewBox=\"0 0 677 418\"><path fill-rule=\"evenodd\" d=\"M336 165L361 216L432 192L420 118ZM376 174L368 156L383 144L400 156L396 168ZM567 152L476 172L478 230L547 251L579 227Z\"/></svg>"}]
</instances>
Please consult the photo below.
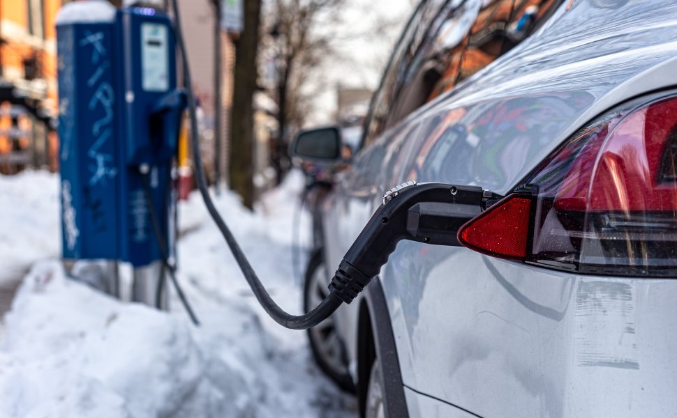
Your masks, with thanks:
<instances>
[{"instance_id":1,"label":"white car in the foreground with red taillight, being charged","mask_svg":"<svg viewBox=\"0 0 677 418\"><path fill-rule=\"evenodd\" d=\"M322 205L314 306L384 193L500 196L311 330L367 417L677 416L677 3L428 0Z\"/></svg>"}]
</instances>

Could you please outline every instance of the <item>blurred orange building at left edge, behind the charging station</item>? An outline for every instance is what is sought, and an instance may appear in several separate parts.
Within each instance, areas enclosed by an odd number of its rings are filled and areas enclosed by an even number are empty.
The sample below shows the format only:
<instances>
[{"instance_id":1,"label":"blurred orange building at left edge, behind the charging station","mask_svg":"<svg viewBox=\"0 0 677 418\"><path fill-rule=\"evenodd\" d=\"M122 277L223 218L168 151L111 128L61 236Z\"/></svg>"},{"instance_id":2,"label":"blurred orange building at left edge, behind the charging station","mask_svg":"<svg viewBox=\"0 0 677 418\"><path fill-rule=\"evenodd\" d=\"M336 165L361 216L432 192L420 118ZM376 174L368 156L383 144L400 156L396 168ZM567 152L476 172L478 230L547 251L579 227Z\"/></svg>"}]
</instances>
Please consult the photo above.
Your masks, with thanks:
<instances>
[{"instance_id":1,"label":"blurred orange building at left edge, behind the charging station","mask_svg":"<svg viewBox=\"0 0 677 418\"><path fill-rule=\"evenodd\" d=\"M57 169L57 42L61 0L0 1L0 173Z\"/></svg>"}]
</instances>

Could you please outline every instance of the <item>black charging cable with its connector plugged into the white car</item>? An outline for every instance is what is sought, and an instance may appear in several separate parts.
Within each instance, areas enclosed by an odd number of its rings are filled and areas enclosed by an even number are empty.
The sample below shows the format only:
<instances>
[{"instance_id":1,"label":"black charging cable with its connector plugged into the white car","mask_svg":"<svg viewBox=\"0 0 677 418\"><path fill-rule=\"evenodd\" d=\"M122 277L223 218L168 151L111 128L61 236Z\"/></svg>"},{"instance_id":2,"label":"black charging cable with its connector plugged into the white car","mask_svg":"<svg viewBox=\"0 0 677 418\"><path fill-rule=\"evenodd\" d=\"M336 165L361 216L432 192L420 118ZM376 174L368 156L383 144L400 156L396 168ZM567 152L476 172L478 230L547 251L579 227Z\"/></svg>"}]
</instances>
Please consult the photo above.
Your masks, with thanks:
<instances>
[{"instance_id":1,"label":"black charging cable with its connector plugged into the white car","mask_svg":"<svg viewBox=\"0 0 677 418\"><path fill-rule=\"evenodd\" d=\"M184 82L188 93L189 115L191 117L191 144L195 179L202 194L204 206L214 219L218 230L228 243L237 265L239 265L254 296L267 314L276 323L292 330L305 330L318 325L332 315L343 302L350 303L369 284L395 250L400 240L412 240L437 245L460 246L456 232L484 208L484 201L494 194L476 186L454 186L442 183L417 185L408 182L390 189L383 197L383 204L374 212L362 232L339 263L331 283L329 295L320 304L303 315L290 315L271 299L256 273L240 249L235 237L219 215L214 201L209 196L207 179L202 169L200 140L198 139L198 118L195 114L195 94L188 68L186 47L181 33L181 14L177 0L172 0L176 11L174 27L177 46L181 49Z\"/></svg>"}]
</instances>

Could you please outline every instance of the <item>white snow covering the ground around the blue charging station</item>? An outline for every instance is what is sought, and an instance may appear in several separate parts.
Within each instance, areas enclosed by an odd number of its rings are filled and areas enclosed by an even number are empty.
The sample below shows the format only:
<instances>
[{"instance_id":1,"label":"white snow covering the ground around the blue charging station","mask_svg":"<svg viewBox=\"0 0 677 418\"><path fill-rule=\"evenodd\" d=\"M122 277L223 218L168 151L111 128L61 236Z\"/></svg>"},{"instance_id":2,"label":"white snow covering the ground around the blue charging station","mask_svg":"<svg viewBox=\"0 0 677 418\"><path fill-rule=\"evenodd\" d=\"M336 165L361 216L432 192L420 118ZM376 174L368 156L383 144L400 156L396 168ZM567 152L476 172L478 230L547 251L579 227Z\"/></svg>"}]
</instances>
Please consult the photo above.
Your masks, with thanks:
<instances>
[{"instance_id":1,"label":"white snow covering the ground around the blue charging station","mask_svg":"<svg viewBox=\"0 0 677 418\"><path fill-rule=\"evenodd\" d=\"M274 299L300 313L292 277L293 173L248 212L217 206ZM0 417L353 417L355 399L311 361L306 334L267 318L198 195L179 207L179 281L202 326L69 279L57 176L0 176L0 267L23 280L0 331ZM307 219L302 222L307 225ZM303 234L302 234L303 235Z\"/></svg>"}]
</instances>

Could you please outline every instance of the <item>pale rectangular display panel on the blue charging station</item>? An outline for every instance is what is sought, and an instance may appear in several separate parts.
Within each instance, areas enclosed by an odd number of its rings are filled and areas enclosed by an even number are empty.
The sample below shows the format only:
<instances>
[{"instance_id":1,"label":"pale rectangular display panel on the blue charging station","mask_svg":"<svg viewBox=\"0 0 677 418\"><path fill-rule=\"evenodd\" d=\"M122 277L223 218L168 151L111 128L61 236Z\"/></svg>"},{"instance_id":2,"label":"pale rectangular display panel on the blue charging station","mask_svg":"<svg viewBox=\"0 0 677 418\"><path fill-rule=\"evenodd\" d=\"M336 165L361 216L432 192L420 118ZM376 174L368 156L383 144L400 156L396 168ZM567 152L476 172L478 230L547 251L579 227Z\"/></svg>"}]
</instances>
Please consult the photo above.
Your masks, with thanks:
<instances>
[{"instance_id":1,"label":"pale rectangular display panel on the blue charging station","mask_svg":"<svg viewBox=\"0 0 677 418\"><path fill-rule=\"evenodd\" d=\"M142 88L144 91L169 90L169 33L163 24L141 25Z\"/></svg>"}]
</instances>

